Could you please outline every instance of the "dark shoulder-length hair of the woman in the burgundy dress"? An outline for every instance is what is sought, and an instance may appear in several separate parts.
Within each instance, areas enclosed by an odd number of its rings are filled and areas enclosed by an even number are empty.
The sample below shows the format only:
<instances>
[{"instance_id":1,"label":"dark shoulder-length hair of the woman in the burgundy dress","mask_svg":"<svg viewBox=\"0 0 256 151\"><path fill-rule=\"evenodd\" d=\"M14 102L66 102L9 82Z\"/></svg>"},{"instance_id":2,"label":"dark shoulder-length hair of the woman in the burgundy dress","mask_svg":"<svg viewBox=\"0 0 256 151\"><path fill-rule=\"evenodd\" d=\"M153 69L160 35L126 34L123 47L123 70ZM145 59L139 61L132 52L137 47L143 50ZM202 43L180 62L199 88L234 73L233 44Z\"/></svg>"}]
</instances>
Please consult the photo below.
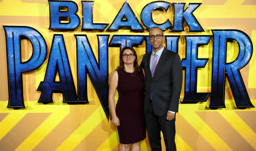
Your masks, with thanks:
<instances>
[{"instance_id":1,"label":"dark shoulder-length hair of the woman in the burgundy dress","mask_svg":"<svg viewBox=\"0 0 256 151\"><path fill-rule=\"evenodd\" d=\"M117 67L117 71L121 71L121 70L125 70L125 66L123 65L123 51L125 51L125 49L130 49L134 54L135 54L135 60L133 62L133 66L134 66L134 69L135 69L135 72L141 72L142 69L141 67L138 65L138 56L137 56L137 53L135 51L135 49L133 47L124 47L123 49L121 49L120 51L120 54L119 54L119 58L120 58L120 65Z\"/></svg>"}]
</instances>

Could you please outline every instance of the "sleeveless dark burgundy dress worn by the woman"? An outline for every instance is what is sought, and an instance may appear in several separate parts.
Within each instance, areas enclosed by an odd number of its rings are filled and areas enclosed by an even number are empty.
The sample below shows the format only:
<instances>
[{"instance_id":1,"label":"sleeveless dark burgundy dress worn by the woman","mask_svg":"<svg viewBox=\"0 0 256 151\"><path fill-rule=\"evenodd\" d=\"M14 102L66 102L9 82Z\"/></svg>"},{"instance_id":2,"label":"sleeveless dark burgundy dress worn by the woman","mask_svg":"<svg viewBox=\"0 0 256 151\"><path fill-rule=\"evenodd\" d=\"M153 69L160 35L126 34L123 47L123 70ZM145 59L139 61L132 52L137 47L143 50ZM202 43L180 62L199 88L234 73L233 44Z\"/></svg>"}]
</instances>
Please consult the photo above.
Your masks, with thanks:
<instances>
[{"instance_id":1,"label":"sleeveless dark burgundy dress worn by the woman","mask_svg":"<svg viewBox=\"0 0 256 151\"><path fill-rule=\"evenodd\" d=\"M143 72L127 73L118 71L118 102L116 106L120 125L117 127L119 142L132 144L146 137L143 114Z\"/></svg>"}]
</instances>

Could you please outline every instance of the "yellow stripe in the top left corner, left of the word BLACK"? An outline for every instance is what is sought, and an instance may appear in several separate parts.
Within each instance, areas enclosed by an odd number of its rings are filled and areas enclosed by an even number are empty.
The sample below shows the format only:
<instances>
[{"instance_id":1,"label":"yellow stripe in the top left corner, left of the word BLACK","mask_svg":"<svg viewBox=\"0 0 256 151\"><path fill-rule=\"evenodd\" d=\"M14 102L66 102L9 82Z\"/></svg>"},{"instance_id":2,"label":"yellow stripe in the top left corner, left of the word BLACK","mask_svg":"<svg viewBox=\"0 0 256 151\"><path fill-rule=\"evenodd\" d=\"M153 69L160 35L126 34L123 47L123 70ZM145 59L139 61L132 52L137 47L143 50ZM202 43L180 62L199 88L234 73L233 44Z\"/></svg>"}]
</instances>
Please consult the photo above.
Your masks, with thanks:
<instances>
[{"instance_id":1,"label":"yellow stripe in the top left corner, left of the word BLACK","mask_svg":"<svg viewBox=\"0 0 256 151\"><path fill-rule=\"evenodd\" d=\"M23 3L19 0L3 0L0 3L3 16L49 16L48 3Z\"/></svg>"}]
</instances>

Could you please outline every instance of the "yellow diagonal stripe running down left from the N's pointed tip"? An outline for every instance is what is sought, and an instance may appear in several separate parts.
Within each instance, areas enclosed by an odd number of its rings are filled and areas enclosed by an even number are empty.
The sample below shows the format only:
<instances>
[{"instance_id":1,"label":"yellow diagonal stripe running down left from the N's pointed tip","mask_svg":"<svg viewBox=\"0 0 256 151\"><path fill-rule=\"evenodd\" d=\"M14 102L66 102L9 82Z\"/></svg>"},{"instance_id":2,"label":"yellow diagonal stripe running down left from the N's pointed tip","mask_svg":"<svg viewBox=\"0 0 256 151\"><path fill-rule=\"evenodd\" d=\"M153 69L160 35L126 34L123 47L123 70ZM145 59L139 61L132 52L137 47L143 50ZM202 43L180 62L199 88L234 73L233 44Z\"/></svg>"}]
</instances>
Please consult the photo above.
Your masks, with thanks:
<instances>
[{"instance_id":1,"label":"yellow diagonal stripe running down left from the N's pointed tip","mask_svg":"<svg viewBox=\"0 0 256 151\"><path fill-rule=\"evenodd\" d=\"M56 150L73 150L73 149L75 149L76 146L79 145L80 142L82 140L84 140L84 138L87 135L89 135L89 133L92 132L93 129L98 124L100 124L101 121L104 120L104 119L106 120L106 116L105 116L103 108L100 106Z\"/></svg>"}]
</instances>

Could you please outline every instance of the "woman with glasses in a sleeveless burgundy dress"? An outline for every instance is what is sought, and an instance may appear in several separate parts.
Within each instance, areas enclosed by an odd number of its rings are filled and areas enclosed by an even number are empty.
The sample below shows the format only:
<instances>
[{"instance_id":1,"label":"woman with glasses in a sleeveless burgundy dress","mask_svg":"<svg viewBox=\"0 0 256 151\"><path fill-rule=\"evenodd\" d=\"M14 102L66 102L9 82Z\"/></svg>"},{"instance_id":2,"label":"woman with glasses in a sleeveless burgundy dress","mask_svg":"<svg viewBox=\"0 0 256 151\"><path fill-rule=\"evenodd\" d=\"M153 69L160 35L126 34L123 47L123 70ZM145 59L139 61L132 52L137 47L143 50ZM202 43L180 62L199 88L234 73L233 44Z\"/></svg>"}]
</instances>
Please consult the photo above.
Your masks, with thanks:
<instances>
[{"instance_id":1,"label":"woman with glasses in a sleeveless burgundy dress","mask_svg":"<svg viewBox=\"0 0 256 151\"><path fill-rule=\"evenodd\" d=\"M143 114L144 71L139 67L137 54L132 47L120 52L120 66L112 73L109 82L109 108L112 122L117 125L119 150L140 150L140 141L146 137ZM115 91L118 102L115 110Z\"/></svg>"}]
</instances>

